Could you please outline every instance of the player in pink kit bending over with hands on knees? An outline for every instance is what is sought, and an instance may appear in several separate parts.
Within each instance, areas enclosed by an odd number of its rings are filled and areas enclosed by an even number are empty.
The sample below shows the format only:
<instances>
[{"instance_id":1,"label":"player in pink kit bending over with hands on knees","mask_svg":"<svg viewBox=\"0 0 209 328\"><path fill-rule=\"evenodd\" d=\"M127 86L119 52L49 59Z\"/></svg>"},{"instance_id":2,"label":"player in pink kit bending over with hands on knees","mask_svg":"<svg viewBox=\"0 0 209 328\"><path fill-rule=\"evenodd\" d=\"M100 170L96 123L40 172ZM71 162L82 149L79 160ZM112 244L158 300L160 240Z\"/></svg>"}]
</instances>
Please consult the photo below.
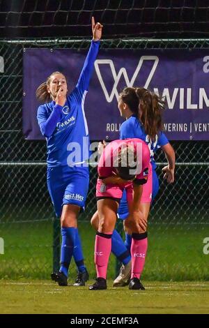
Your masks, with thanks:
<instances>
[{"instance_id":1,"label":"player in pink kit bending over with hands on knees","mask_svg":"<svg viewBox=\"0 0 209 328\"><path fill-rule=\"evenodd\" d=\"M134 158L134 160L133 160ZM95 237L95 267L97 279L90 290L107 288L107 264L111 253L111 236L116 224L118 205L123 189L130 185L128 193L130 215L125 226L132 233L132 274L130 289L142 289L139 281L141 265L144 258L139 256L141 235L146 232L146 220L139 209L142 185L150 173L150 151L146 143L139 139L115 140L110 142L102 152L98 163L98 182L96 197L99 225ZM144 244L144 241L142 241ZM143 248L146 245L143 245Z\"/></svg>"}]
</instances>

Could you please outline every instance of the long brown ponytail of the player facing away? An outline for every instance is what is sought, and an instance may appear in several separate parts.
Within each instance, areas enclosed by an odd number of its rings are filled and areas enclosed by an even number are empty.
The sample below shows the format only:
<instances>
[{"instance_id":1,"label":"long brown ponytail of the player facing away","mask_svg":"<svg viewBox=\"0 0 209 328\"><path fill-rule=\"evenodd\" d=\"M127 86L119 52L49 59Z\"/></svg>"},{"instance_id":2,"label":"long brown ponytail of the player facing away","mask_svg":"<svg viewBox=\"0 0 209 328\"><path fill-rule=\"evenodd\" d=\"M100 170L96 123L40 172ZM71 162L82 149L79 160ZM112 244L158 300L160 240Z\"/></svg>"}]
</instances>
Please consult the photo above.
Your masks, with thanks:
<instances>
[{"instance_id":1,"label":"long brown ponytail of the player facing away","mask_svg":"<svg viewBox=\"0 0 209 328\"><path fill-rule=\"evenodd\" d=\"M155 141L156 135L163 129L164 100L144 88L136 88L135 91L139 98L139 119L149 139Z\"/></svg>"}]
</instances>

